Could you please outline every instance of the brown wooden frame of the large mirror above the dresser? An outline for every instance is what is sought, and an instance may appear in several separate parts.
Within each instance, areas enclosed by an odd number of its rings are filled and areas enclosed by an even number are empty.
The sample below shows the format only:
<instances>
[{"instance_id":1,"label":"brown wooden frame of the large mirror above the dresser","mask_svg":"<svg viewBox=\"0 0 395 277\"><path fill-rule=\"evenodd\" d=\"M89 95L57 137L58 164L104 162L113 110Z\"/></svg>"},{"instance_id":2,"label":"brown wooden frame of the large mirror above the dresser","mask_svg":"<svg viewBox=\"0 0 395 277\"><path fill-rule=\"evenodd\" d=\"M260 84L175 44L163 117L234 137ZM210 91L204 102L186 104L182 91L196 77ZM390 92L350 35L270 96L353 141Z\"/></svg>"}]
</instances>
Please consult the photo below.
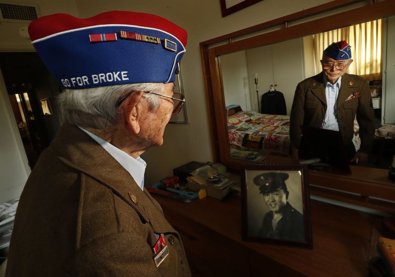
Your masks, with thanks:
<instances>
[{"instance_id":1,"label":"brown wooden frame of the large mirror above the dresser","mask_svg":"<svg viewBox=\"0 0 395 277\"><path fill-rule=\"evenodd\" d=\"M372 4L363 4L363 2L362 0L332 1L200 43L214 162L220 162L227 168L239 171L242 164L248 163L231 159L228 154L229 142L225 99L218 56L339 29L395 14L395 0L381 2L373 0ZM352 8L352 5L356 3L364 6ZM337 14L325 14L338 8L348 10ZM312 15L320 18L307 21L307 17ZM297 23L297 21L303 21L303 23ZM294 25L288 26L290 23ZM275 27L280 29L244 39L241 38ZM235 41L235 39L239 40ZM218 107L223 107L223 109ZM278 158L280 161L273 159L276 163L295 162L286 157ZM309 183L320 184L320 186L313 186L310 189L311 194L395 214L395 182L388 180L388 170L355 166L352 167L352 171L352 176L310 171Z\"/></svg>"}]
</instances>

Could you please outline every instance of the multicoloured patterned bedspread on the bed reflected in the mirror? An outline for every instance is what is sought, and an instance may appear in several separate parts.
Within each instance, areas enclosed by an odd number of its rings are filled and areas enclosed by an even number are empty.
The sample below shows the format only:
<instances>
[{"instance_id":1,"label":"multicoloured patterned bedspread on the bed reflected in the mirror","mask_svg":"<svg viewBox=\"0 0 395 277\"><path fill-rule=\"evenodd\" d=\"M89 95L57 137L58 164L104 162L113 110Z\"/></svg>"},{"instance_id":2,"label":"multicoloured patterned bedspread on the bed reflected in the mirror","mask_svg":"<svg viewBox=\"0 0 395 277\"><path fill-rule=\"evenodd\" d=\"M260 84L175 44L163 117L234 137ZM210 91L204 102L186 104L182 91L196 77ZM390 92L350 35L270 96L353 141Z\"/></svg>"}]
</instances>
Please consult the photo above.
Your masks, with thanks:
<instances>
[{"instance_id":1,"label":"multicoloured patterned bedspread on the bed reflected in the mirror","mask_svg":"<svg viewBox=\"0 0 395 277\"><path fill-rule=\"evenodd\" d=\"M228 117L230 147L264 154L289 155L289 115L262 114L242 111ZM354 121L354 138L359 149L359 126Z\"/></svg>"}]
</instances>

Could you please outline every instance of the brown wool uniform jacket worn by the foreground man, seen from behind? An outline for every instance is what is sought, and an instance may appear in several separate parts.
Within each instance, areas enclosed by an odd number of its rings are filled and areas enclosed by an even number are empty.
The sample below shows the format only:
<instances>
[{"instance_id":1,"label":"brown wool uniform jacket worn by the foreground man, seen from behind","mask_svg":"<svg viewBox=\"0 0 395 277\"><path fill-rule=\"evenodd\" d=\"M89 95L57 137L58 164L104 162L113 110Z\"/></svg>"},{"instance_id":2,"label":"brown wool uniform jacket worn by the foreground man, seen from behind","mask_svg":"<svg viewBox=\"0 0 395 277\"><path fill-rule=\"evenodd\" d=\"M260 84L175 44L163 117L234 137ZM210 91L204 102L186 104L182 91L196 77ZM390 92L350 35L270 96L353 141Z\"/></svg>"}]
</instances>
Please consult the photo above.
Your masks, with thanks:
<instances>
[{"instance_id":1,"label":"brown wool uniform jacket worn by the foreground man, seen from behind","mask_svg":"<svg viewBox=\"0 0 395 277\"><path fill-rule=\"evenodd\" d=\"M155 233L169 252L157 268ZM86 133L62 126L19 200L6 276L190 274L160 205Z\"/></svg>"}]
</instances>

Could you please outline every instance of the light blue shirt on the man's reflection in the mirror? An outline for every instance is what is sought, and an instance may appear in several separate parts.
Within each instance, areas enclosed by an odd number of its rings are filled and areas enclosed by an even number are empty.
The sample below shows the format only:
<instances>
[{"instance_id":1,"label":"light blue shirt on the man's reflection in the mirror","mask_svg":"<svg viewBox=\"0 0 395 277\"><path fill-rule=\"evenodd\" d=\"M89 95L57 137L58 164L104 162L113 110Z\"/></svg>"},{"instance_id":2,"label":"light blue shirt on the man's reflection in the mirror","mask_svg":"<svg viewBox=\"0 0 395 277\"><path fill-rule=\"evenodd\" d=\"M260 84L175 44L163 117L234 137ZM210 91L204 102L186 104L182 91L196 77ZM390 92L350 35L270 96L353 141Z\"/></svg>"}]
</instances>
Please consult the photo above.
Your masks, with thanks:
<instances>
[{"instance_id":1,"label":"light blue shirt on the man's reflection in the mirror","mask_svg":"<svg viewBox=\"0 0 395 277\"><path fill-rule=\"evenodd\" d=\"M328 79L324 75L324 83L325 86L325 96L326 96L326 114L324 118L324 122L322 123L323 129L339 131L339 124L338 119L336 118L336 110L337 104L336 101L338 100L340 86L342 85L342 77L340 76L338 81L333 85L329 83Z\"/></svg>"}]
</instances>

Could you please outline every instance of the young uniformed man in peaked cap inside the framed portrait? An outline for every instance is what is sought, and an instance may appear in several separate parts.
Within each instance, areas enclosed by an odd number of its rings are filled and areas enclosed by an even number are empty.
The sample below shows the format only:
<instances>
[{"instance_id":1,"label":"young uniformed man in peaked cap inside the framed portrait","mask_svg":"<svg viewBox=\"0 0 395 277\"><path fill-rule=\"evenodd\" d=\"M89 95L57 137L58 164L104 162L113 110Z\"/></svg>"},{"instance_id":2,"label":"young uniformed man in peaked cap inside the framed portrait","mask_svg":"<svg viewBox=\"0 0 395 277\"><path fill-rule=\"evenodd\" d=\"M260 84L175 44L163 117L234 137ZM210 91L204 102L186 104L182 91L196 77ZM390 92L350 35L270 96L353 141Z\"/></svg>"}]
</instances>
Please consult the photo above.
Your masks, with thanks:
<instances>
[{"instance_id":1,"label":"young uniformed man in peaked cap inside the framed portrait","mask_svg":"<svg viewBox=\"0 0 395 277\"><path fill-rule=\"evenodd\" d=\"M289 175L281 172L267 172L254 177L265 204L270 211L263 217L261 236L274 239L304 241L303 215L289 204L289 191L285 184Z\"/></svg>"}]
</instances>

